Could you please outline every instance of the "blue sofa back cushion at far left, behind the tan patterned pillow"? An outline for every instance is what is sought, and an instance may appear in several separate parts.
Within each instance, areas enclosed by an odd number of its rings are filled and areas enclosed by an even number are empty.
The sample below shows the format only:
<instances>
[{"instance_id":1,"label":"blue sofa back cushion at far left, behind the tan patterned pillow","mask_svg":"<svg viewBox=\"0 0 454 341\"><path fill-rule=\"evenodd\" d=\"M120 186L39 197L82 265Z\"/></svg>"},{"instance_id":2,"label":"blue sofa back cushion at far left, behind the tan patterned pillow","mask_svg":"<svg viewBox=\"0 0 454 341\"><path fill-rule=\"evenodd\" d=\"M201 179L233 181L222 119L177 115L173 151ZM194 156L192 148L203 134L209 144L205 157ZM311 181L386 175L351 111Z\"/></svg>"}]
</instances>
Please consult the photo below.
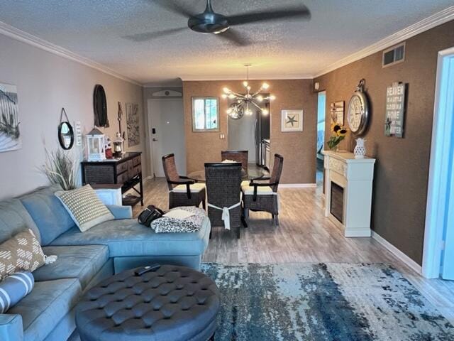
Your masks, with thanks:
<instances>
[{"instance_id":1,"label":"blue sofa back cushion at far left, behind the tan patterned pillow","mask_svg":"<svg viewBox=\"0 0 454 341\"><path fill-rule=\"evenodd\" d=\"M32 229L36 238L41 241L40 230L28 214L26 207L23 207L21 200L0 201L0 243L24 229Z\"/></svg>"}]
</instances>

